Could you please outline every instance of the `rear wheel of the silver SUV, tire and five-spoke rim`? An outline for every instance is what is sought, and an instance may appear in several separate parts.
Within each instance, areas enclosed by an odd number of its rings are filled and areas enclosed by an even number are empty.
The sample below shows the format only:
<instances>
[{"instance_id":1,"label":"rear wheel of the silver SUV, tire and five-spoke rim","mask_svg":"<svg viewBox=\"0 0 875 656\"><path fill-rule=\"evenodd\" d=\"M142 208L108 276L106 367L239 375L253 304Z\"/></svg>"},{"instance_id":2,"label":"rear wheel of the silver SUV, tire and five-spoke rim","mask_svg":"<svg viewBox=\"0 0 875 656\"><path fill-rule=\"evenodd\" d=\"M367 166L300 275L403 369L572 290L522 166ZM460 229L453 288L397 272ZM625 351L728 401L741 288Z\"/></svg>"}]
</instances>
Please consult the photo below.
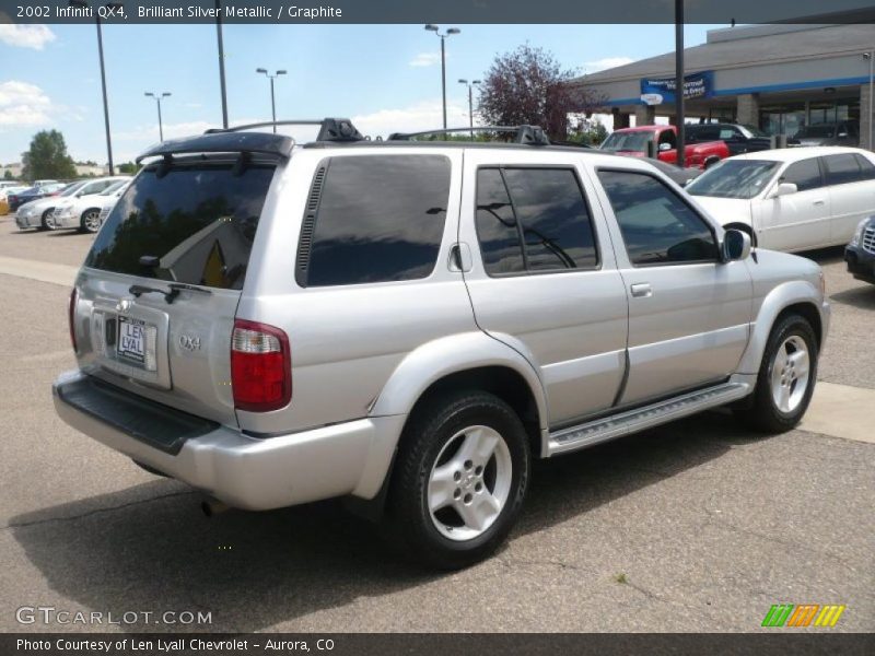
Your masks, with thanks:
<instances>
[{"instance_id":1,"label":"rear wheel of the silver SUV, tire and five-spoke rim","mask_svg":"<svg viewBox=\"0 0 875 656\"><path fill-rule=\"evenodd\" d=\"M529 468L525 427L508 403L481 391L444 396L405 430L392 519L420 561L443 570L468 566L510 532Z\"/></svg>"}]
</instances>

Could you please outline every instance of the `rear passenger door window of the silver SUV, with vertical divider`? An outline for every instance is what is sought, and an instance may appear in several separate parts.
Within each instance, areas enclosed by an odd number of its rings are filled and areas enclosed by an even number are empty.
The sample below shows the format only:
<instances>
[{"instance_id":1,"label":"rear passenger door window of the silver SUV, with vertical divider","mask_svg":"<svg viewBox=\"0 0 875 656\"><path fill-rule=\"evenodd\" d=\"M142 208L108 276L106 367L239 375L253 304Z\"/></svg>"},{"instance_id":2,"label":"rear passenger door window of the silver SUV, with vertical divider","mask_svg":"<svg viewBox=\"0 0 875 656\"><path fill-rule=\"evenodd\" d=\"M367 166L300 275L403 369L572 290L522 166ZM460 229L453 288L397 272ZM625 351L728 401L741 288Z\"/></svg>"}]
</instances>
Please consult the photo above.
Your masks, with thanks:
<instances>
[{"instance_id":1,"label":"rear passenger door window of the silver SUV, with vertical divider","mask_svg":"<svg viewBox=\"0 0 875 656\"><path fill-rule=\"evenodd\" d=\"M480 168L476 222L490 276L598 265L590 210L570 168Z\"/></svg>"}]
</instances>

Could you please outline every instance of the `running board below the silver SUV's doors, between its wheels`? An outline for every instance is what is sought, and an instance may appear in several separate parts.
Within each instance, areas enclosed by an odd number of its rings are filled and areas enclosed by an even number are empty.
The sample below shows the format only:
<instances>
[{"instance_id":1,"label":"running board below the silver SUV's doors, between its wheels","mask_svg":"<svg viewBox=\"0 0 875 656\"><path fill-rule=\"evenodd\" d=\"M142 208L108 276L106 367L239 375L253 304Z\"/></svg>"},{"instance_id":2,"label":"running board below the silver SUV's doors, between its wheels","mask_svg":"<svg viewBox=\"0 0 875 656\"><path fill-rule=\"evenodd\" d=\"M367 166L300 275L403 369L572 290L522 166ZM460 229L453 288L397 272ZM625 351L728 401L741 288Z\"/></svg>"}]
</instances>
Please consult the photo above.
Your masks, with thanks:
<instances>
[{"instance_id":1,"label":"running board below the silver SUV's doors, between its wheels","mask_svg":"<svg viewBox=\"0 0 875 656\"><path fill-rule=\"evenodd\" d=\"M637 433L667 421L736 401L746 397L751 390L751 386L747 383L723 383L714 387L660 401L658 403L562 429L550 433L547 454L552 456L578 450L600 442Z\"/></svg>"}]
</instances>

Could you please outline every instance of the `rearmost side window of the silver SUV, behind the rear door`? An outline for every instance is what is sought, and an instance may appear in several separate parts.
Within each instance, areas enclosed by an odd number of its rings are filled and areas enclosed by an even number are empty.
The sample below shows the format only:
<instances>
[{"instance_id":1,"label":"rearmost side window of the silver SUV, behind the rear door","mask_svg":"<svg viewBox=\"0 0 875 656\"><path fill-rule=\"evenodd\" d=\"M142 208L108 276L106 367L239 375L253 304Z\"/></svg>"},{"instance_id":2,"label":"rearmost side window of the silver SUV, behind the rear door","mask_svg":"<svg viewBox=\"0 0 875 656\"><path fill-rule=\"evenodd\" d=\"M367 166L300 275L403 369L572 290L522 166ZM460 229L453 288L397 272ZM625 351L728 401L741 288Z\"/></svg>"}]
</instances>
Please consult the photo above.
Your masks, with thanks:
<instances>
[{"instance_id":1,"label":"rearmost side window of the silver SUV, behind the rear door","mask_svg":"<svg viewBox=\"0 0 875 656\"><path fill-rule=\"evenodd\" d=\"M447 157L332 157L316 176L308 206L318 209L304 218L300 284L389 282L431 274L450 199Z\"/></svg>"}]
</instances>

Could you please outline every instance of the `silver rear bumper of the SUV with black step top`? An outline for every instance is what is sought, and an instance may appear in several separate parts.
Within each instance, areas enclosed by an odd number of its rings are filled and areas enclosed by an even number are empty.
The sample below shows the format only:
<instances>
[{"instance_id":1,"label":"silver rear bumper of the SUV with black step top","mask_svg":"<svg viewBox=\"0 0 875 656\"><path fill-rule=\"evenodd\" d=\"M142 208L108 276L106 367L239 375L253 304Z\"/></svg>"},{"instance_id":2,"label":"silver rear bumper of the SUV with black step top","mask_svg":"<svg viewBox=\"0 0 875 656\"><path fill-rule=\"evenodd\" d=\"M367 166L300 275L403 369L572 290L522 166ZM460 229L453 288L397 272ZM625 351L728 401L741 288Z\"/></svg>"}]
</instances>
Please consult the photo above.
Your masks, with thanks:
<instances>
[{"instance_id":1,"label":"silver rear bumper of the SUV with black step top","mask_svg":"<svg viewBox=\"0 0 875 656\"><path fill-rule=\"evenodd\" d=\"M262 511L353 494L372 499L388 471L404 417L368 418L267 438L198 418L177 444L152 426L173 430L179 411L114 388L113 417L100 384L79 371L52 385L58 415L70 426L230 506ZM75 391L75 394L72 394ZM125 395L130 397L126 406ZM164 411L161 410L164 408ZM120 414L119 414L120 413ZM189 415L190 417L190 415ZM198 425L197 422L201 423ZM167 426L171 426L167 429ZM144 435L145 433L145 435ZM172 453L176 450L176 453Z\"/></svg>"}]
</instances>

